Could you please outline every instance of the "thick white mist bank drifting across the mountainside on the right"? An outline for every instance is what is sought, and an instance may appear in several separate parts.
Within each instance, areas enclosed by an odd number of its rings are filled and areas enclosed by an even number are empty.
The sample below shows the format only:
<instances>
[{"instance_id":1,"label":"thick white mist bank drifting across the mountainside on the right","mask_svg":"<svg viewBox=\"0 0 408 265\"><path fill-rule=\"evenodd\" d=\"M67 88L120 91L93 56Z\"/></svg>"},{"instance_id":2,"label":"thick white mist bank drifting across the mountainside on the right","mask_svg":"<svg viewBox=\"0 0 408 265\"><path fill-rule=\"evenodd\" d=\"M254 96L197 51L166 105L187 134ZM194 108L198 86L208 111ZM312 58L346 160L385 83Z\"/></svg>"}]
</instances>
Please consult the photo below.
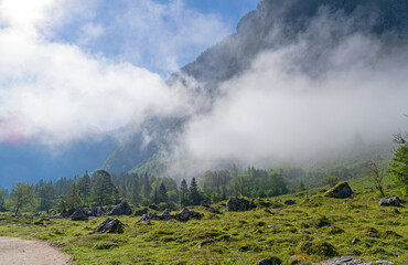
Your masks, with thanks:
<instances>
[{"instance_id":1,"label":"thick white mist bank drifting across the mountainside on the right","mask_svg":"<svg viewBox=\"0 0 408 265\"><path fill-rule=\"evenodd\" d=\"M171 171L304 165L390 145L408 128L407 45L350 33L351 19L331 23L323 12L290 45L260 53L223 83L212 112L194 116L180 137Z\"/></svg>"}]
</instances>

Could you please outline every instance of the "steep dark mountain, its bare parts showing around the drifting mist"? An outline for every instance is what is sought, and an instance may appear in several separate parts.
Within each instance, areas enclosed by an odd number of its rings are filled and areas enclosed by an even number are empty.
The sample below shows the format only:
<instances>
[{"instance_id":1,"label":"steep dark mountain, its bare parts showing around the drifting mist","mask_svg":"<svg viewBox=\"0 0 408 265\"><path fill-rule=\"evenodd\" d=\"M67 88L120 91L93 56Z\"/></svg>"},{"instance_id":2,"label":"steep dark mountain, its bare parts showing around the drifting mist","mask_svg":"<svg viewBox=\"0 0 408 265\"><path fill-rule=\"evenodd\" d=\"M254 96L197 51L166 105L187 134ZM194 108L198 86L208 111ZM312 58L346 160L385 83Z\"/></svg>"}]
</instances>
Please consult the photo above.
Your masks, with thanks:
<instances>
[{"instance_id":1,"label":"steep dark mountain, its bare parts showing around the drifting mist","mask_svg":"<svg viewBox=\"0 0 408 265\"><path fill-rule=\"evenodd\" d=\"M324 20L318 21L318 32L311 34L309 29L319 18ZM241 18L236 33L171 75L168 84L186 83L185 76L193 77L204 84L203 94L216 100L222 82L248 70L261 52L284 47L299 38L311 43L304 57L299 59L299 68L316 75L330 63L322 51L356 32L385 36L389 43L405 42L408 0L264 0L257 10ZM150 119L144 126L128 131L129 137L115 148L104 168L114 172L164 172L165 152L171 152L171 139L182 131L185 120L189 117ZM146 131L150 137L148 145L143 144Z\"/></svg>"}]
</instances>

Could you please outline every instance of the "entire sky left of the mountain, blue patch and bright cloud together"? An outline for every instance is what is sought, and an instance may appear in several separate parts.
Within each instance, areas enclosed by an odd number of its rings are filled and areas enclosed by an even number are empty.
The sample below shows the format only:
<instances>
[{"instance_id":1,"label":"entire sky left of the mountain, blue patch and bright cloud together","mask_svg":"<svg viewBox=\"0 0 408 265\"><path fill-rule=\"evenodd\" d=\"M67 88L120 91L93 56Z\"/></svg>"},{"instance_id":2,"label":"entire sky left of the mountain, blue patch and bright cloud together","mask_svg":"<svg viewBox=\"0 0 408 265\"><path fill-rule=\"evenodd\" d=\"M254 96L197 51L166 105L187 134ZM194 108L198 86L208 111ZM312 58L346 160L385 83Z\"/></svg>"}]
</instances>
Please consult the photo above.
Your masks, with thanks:
<instances>
[{"instance_id":1,"label":"entire sky left of the mountain, blue patch and bright cloud together","mask_svg":"<svg viewBox=\"0 0 408 265\"><path fill-rule=\"evenodd\" d=\"M0 140L62 142L180 112L167 76L257 2L0 0Z\"/></svg>"}]
</instances>

